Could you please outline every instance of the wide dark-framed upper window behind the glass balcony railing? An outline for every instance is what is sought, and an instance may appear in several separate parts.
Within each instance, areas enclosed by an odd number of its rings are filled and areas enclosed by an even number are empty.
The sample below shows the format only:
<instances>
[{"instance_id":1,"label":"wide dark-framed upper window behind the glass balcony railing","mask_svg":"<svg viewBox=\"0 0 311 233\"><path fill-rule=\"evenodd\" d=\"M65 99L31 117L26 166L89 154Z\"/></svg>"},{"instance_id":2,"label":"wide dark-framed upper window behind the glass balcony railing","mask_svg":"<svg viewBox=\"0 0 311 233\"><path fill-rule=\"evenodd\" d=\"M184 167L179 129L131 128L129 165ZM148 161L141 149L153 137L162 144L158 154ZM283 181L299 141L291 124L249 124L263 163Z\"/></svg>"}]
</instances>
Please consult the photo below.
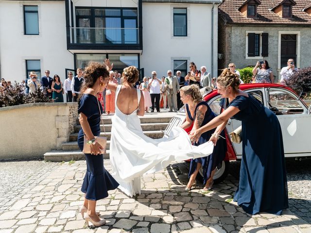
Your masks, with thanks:
<instances>
[{"instance_id":1,"label":"wide dark-framed upper window behind the glass balcony railing","mask_svg":"<svg viewBox=\"0 0 311 233\"><path fill-rule=\"evenodd\" d=\"M135 8L78 8L77 29L80 44L138 44L138 14Z\"/></svg>"}]
</instances>

